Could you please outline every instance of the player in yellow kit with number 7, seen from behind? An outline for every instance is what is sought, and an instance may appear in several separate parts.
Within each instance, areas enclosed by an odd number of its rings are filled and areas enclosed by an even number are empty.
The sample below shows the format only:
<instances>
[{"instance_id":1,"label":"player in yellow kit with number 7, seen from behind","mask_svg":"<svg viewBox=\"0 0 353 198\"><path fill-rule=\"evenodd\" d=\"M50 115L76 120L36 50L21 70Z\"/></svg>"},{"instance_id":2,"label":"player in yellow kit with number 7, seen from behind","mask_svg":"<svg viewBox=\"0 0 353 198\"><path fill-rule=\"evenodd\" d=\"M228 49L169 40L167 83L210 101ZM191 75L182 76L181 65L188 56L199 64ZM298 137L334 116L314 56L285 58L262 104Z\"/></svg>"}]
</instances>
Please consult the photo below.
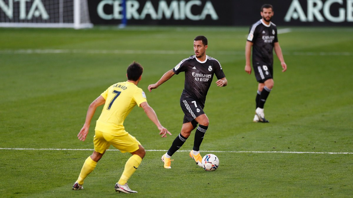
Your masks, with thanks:
<instances>
[{"instance_id":1,"label":"player in yellow kit with number 7, seen from behind","mask_svg":"<svg viewBox=\"0 0 353 198\"><path fill-rule=\"evenodd\" d=\"M95 136L93 138L94 151L89 156L81 173L74 183L72 190L83 189L83 181L97 165L110 144L119 149L121 153L131 153L132 156L125 164L124 172L119 181L115 184L115 191L124 193L137 193L131 190L127 185L127 180L136 171L143 157L146 154L145 149L136 138L125 131L124 120L135 105L142 107L153 123L160 130L161 137L167 137L170 132L159 122L155 111L150 107L146 100L146 95L141 88L137 87L141 80L143 68L139 63L133 62L127 68L127 81L119 82L110 86L97 99L95 99L88 108L85 124L78 133L77 137L84 141L88 134L91 119L98 106L103 105L103 110L97 120Z\"/></svg>"}]
</instances>

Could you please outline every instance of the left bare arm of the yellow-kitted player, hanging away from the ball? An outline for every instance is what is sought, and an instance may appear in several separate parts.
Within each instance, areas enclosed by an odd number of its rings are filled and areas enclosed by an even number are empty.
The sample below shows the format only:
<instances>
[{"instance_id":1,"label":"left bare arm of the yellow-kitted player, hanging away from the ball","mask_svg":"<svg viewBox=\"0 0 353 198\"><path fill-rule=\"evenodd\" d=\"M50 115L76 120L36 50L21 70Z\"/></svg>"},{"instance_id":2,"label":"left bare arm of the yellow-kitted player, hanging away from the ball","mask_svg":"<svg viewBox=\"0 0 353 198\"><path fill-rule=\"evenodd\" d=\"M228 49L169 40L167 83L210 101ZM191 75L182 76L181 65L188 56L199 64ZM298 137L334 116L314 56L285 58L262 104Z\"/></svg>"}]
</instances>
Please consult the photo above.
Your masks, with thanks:
<instances>
[{"instance_id":1,"label":"left bare arm of the yellow-kitted player, hanging away from the ball","mask_svg":"<svg viewBox=\"0 0 353 198\"><path fill-rule=\"evenodd\" d=\"M88 134L88 129L89 126L91 125L91 120L94 115L94 112L96 112L96 109L98 106L101 106L104 104L106 100L100 95L97 99L95 99L88 107L87 115L86 115L86 121L85 124L83 125L82 129L78 133L77 137L81 141L85 141L87 134Z\"/></svg>"}]
</instances>

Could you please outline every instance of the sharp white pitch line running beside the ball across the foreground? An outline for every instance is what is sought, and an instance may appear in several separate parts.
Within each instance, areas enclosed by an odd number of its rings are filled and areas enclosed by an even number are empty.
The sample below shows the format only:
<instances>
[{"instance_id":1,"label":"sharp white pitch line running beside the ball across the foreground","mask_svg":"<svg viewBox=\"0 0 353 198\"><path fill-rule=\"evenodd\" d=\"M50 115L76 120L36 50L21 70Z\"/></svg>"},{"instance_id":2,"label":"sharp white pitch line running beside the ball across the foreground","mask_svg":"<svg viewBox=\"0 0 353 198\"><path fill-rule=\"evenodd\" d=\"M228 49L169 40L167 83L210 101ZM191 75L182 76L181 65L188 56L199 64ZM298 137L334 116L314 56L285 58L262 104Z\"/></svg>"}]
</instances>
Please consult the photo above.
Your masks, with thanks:
<instances>
[{"instance_id":1,"label":"sharp white pitch line running beside the ball across the foreground","mask_svg":"<svg viewBox=\"0 0 353 198\"><path fill-rule=\"evenodd\" d=\"M0 150L93 150L93 149L54 149L54 148L0 148ZM108 149L109 151L119 151L118 149ZM146 150L146 151L168 151L168 150ZM217 151L217 150L200 150L201 152L210 153L297 153L297 154L353 154L341 152L299 152L299 151ZM178 150L177 152L190 152L190 150Z\"/></svg>"}]
</instances>

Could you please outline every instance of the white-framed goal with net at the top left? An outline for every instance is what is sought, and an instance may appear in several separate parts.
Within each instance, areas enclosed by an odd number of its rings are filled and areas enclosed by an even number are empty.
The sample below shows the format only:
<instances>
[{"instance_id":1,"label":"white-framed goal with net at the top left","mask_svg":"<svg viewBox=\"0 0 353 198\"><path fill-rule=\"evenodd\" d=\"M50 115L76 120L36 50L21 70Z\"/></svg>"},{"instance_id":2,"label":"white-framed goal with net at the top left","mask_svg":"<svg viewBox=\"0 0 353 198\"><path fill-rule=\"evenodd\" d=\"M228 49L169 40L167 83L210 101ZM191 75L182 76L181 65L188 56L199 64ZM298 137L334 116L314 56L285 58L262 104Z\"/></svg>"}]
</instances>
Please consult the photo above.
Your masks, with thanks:
<instances>
[{"instance_id":1,"label":"white-framed goal with net at the top left","mask_svg":"<svg viewBox=\"0 0 353 198\"><path fill-rule=\"evenodd\" d=\"M91 28L88 0L0 0L0 27Z\"/></svg>"}]
</instances>

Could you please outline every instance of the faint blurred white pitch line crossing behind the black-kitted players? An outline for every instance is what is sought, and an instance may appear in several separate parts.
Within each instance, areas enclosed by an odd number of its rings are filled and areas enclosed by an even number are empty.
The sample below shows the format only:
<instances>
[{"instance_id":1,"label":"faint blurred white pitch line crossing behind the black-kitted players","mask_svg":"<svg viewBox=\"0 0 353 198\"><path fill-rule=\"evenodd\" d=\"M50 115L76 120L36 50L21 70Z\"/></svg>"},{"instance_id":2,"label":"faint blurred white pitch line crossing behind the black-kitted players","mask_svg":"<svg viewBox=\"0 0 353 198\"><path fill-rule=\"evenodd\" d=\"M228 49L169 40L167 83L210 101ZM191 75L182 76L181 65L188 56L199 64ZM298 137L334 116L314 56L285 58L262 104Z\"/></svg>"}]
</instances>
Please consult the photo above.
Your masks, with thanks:
<instances>
[{"instance_id":1,"label":"faint blurred white pitch line crossing behind the black-kitted players","mask_svg":"<svg viewBox=\"0 0 353 198\"><path fill-rule=\"evenodd\" d=\"M90 49L18 49L0 50L0 54L184 54L193 55L191 50L90 50ZM244 55L244 51L213 51L217 55ZM349 51L293 51L283 52L284 55L293 56L353 56Z\"/></svg>"}]
</instances>

